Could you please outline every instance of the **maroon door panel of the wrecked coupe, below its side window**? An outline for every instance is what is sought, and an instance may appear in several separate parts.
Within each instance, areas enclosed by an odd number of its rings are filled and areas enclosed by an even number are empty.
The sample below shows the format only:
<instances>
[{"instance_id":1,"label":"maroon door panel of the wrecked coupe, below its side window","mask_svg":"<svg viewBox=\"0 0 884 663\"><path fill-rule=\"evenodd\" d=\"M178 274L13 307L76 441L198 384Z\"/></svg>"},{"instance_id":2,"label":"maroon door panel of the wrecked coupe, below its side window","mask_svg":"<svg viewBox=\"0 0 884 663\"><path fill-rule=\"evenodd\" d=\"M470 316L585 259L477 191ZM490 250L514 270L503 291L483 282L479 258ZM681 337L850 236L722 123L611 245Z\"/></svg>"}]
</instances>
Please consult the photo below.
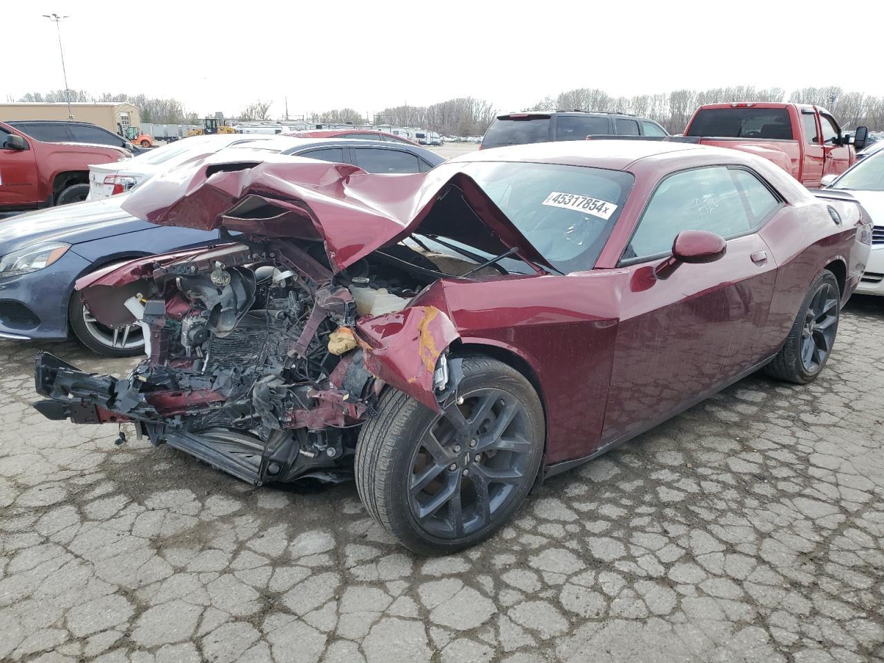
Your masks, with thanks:
<instances>
[{"instance_id":1,"label":"maroon door panel of the wrecked coupe, below its side window","mask_svg":"<svg viewBox=\"0 0 884 663\"><path fill-rule=\"evenodd\" d=\"M751 366L775 270L758 266L758 235L728 241L717 262L667 279L635 265L621 297L604 442L644 428ZM758 325L761 325L758 327Z\"/></svg>"}]
</instances>

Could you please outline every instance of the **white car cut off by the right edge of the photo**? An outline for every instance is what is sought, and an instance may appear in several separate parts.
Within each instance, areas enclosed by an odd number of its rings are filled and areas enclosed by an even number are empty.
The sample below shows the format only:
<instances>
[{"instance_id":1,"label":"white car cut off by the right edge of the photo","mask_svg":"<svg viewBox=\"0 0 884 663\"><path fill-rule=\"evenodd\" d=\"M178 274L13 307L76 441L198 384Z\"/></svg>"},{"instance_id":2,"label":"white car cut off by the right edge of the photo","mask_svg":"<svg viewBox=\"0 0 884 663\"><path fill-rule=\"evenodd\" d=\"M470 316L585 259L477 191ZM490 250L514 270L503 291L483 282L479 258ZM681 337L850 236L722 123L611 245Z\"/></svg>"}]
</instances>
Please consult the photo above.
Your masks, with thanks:
<instances>
[{"instance_id":1,"label":"white car cut off by the right edge of the photo","mask_svg":"<svg viewBox=\"0 0 884 663\"><path fill-rule=\"evenodd\" d=\"M872 217L872 251L857 293L884 295L884 149L857 161L831 183L823 178L823 184L852 195Z\"/></svg>"}]
</instances>

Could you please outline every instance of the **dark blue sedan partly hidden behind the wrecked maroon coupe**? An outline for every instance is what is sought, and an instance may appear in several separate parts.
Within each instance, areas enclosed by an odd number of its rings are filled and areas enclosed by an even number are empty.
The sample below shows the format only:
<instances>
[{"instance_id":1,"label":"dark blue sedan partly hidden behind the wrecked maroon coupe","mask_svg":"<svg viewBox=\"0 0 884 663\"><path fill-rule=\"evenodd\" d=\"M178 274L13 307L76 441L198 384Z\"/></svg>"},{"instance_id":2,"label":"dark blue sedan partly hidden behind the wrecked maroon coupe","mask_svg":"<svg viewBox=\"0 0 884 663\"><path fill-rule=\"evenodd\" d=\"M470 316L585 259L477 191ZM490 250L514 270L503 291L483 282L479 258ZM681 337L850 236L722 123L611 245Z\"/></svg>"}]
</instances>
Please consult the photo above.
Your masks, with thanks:
<instances>
[{"instance_id":1,"label":"dark blue sedan partly hidden behind the wrecked maroon coupe","mask_svg":"<svg viewBox=\"0 0 884 663\"><path fill-rule=\"evenodd\" d=\"M262 141L260 149L382 173L426 172L444 161L416 145L348 139L279 136ZM141 354L140 327L98 323L74 282L110 264L208 244L219 235L149 224L121 210L125 200L120 194L0 220L0 338L63 340L73 331L99 354Z\"/></svg>"}]
</instances>

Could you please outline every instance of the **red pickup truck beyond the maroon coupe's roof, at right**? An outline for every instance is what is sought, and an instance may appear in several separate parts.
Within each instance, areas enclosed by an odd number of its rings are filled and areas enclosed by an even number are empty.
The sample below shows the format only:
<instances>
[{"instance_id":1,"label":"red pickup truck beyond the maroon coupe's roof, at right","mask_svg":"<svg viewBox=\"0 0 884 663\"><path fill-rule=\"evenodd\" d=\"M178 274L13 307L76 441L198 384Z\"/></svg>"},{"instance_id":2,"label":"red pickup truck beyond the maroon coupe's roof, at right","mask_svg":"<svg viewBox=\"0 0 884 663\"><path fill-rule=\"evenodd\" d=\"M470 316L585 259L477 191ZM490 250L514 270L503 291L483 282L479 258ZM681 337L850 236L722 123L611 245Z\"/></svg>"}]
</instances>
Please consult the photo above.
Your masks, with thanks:
<instances>
[{"instance_id":1,"label":"red pickup truck beyond the maroon coupe's roof, at right","mask_svg":"<svg viewBox=\"0 0 884 663\"><path fill-rule=\"evenodd\" d=\"M850 168L867 135L865 126L842 132L828 110L804 103L710 103L684 130L691 142L764 156L808 188Z\"/></svg>"}]
</instances>

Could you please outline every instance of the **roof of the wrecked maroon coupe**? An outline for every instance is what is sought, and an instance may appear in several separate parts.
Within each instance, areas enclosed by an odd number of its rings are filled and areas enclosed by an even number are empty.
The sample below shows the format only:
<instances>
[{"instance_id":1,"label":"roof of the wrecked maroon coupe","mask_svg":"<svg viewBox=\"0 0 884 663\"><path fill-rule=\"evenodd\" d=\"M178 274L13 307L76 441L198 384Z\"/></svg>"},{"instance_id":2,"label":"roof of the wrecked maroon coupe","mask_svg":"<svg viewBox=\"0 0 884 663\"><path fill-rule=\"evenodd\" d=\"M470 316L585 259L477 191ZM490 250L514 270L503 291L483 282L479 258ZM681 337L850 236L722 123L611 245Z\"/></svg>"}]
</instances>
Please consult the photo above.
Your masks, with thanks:
<instances>
[{"instance_id":1,"label":"roof of the wrecked maroon coupe","mask_svg":"<svg viewBox=\"0 0 884 663\"><path fill-rule=\"evenodd\" d=\"M693 150L734 151L710 148L694 143L669 141L556 141L483 149L479 152L455 156L450 161L522 161L537 164L592 166L621 171L629 164L649 156Z\"/></svg>"}]
</instances>

